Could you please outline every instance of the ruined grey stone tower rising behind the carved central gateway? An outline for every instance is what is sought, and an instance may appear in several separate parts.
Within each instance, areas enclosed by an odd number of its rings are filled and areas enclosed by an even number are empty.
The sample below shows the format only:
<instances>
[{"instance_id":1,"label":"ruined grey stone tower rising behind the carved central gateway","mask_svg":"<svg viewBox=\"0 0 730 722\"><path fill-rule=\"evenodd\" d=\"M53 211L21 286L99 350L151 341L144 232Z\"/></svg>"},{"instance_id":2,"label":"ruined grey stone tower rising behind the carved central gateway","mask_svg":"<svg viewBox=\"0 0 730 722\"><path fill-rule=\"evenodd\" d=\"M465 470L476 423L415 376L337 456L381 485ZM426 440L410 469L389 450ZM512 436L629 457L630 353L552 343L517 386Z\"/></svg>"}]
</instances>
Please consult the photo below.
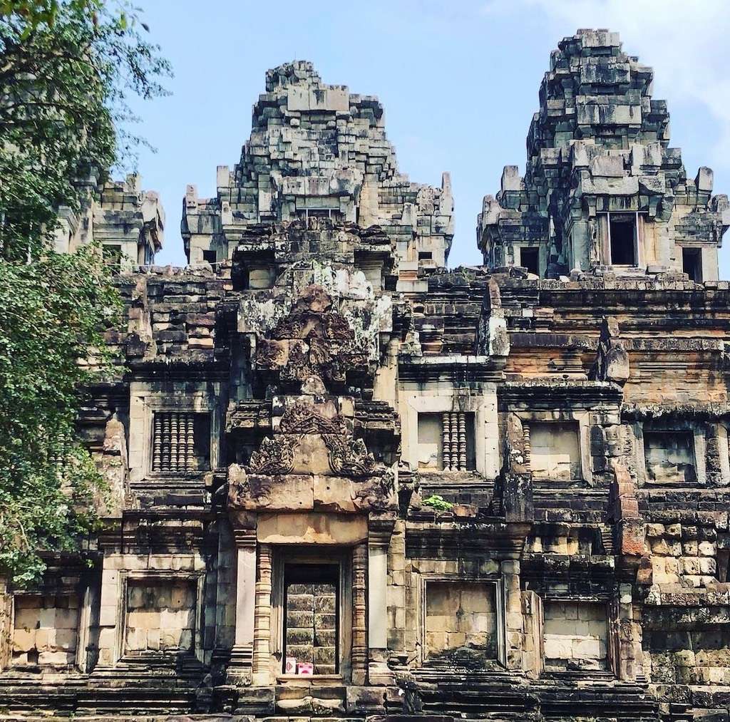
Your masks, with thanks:
<instances>
[{"instance_id":1,"label":"ruined grey stone tower rising behind the carved central gateway","mask_svg":"<svg viewBox=\"0 0 730 722\"><path fill-rule=\"evenodd\" d=\"M266 73L251 137L231 173L218 166L218 195L188 185L183 238L188 261L231 258L247 226L330 218L380 226L396 242L404 280L445 266L453 237L450 178L441 188L410 183L385 137L383 106L325 85L311 63Z\"/></svg>"}]
</instances>

